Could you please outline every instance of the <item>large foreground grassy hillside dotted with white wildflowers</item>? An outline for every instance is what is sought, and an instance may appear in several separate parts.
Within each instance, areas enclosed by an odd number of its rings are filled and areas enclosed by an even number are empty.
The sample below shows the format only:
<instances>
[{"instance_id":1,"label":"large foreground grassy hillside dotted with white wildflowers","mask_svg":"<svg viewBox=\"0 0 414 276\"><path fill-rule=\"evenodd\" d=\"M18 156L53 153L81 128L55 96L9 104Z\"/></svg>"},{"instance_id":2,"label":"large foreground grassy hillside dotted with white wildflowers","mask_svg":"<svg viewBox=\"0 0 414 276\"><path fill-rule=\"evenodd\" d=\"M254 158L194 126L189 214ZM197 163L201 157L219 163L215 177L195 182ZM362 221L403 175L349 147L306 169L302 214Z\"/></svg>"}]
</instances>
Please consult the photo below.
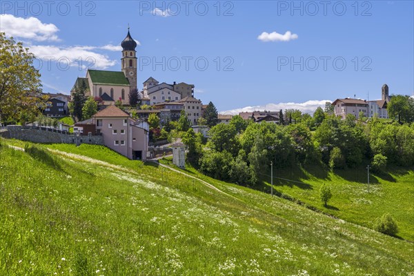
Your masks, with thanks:
<instances>
[{"instance_id":1,"label":"large foreground grassy hillside dotted with white wildflowers","mask_svg":"<svg viewBox=\"0 0 414 276\"><path fill-rule=\"evenodd\" d=\"M0 275L414 273L403 240L94 146L65 150L0 146Z\"/></svg>"}]
</instances>

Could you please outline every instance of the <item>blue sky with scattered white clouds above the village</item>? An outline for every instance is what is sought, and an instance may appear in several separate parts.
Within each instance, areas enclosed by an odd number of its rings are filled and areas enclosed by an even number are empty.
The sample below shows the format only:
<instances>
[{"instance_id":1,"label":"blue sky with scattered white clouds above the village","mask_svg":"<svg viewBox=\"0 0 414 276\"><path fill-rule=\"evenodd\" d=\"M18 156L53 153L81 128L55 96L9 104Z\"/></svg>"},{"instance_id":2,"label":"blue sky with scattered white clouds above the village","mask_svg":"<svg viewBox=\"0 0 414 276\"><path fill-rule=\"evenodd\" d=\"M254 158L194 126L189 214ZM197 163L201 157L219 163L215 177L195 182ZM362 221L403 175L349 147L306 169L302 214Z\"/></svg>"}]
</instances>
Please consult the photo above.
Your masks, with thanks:
<instances>
[{"instance_id":1,"label":"blue sky with scattered white clouds above the village","mask_svg":"<svg viewBox=\"0 0 414 276\"><path fill-rule=\"evenodd\" d=\"M88 57L93 68L121 70L128 23L150 63L138 70L139 88L148 77L193 83L195 97L220 111L379 99L384 83L391 94L414 92L413 1L33 3L2 1L0 28L43 57L45 92L68 94ZM60 58L60 68L44 57Z\"/></svg>"}]
</instances>

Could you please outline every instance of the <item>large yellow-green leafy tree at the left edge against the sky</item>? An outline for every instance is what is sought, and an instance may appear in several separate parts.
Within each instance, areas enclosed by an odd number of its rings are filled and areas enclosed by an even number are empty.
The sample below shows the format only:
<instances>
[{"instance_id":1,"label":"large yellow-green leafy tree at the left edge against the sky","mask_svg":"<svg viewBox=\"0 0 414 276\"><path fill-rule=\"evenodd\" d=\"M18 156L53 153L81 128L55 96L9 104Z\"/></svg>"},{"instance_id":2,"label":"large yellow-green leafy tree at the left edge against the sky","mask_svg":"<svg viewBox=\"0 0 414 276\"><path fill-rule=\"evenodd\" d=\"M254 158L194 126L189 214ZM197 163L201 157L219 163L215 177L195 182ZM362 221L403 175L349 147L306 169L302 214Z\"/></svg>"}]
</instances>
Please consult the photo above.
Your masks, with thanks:
<instances>
[{"instance_id":1,"label":"large yellow-green leafy tree at the left edge against the sky","mask_svg":"<svg viewBox=\"0 0 414 276\"><path fill-rule=\"evenodd\" d=\"M40 73L28 50L0 32L0 121L8 117L18 119L22 112L36 117L39 108L45 107L46 99L40 94Z\"/></svg>"}]
</instances>

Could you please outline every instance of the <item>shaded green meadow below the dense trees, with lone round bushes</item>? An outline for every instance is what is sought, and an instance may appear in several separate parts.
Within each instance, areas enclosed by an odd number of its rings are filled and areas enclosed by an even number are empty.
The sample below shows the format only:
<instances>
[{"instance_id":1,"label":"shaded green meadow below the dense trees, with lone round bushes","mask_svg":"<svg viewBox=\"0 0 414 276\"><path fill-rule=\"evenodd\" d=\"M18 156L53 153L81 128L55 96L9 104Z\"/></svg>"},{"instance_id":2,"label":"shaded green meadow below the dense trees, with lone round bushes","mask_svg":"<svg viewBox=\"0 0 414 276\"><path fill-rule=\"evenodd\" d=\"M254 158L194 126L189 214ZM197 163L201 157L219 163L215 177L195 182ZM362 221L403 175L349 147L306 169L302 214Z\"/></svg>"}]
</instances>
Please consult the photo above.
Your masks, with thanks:
<instances>
[{"instance_id":1,"label":"shaded green meadow below the dense trees, with lone round bushes","mask_svg":"<svg viewBox=\"0 0 414 276\"><path fill-rule=\"evenodd\" d=\"M172 164L165 159L164 164ZM206 179L204 175L188 166L188 172ZM253 187L270 193L270 171L262 177L264 184ZM390 213L397 225L397 237L414 242L414 168L388 168L381 174L370 173L370 193L368 193L367 171L364 167L348 170L324 170L318 166L273 170L273 188L277 195L298 199L312 206L355 224L373 228L373 221L384 213ZM285 180L284 180L285 179ZM290 179L291 181L287 180ZM222 181L211 180L217 184ZM319 188L328 184L333 193L328 206L319 199Z\"/></svg>"}]
</instances>

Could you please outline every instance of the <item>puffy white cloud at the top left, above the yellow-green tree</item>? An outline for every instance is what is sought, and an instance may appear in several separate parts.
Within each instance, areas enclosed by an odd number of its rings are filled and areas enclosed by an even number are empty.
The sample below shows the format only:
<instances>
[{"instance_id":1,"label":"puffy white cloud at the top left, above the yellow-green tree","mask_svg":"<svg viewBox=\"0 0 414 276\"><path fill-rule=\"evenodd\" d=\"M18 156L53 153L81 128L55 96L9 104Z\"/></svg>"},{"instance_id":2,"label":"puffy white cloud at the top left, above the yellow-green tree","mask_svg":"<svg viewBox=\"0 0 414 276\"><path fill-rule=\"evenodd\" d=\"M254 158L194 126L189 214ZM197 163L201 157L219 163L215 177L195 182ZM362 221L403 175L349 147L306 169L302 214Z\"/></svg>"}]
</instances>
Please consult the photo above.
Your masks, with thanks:
<instances>
[{"instance_id":1,"label":"puffy white cloud at the top left, above the yellow-green tree","mask_svg":"<svg viewBox=\"0 0 414 276\"><path fill-rule=\"evenodd\" d=\"M35 17L14 17L12 14L0 14L0 31L10 37L35 41L59 41L59 29L52 23L41 23Z\"/></svg>"}]
</instances>

